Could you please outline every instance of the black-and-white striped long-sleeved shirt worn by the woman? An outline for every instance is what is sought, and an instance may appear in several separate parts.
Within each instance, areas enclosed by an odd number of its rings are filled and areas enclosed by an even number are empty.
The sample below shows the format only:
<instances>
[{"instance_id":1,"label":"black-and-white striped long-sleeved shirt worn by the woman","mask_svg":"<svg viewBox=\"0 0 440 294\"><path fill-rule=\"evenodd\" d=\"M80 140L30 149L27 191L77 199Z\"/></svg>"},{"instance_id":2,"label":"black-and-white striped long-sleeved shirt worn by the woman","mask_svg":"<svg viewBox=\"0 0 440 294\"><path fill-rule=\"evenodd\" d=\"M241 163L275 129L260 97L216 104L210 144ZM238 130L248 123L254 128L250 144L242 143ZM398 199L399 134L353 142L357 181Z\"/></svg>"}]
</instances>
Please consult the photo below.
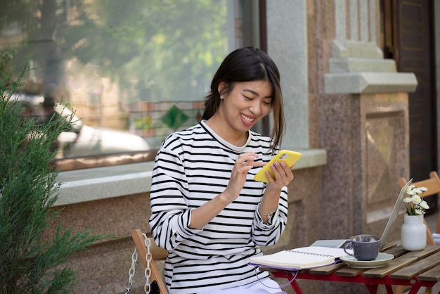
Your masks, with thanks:
<instances>
[{"instance_id":1,"label":"black-and-white striped long-sleeved shirt worn by the woman","mask_svg":"<svg viewBox=\"0 0 440 294\"><path fill-rule=\"evenodd\" d=\"M252 168L240 196L203 229L189 227L191 210L222 193L240 153L254 152L256 161L273 155L271 139L250 131L244 146L221 139L205 122L171 134L155 159L150 190L150 228L157 245L169 251L165 282L172 293L200 293L231 288L268 277L249 266L261 255L259 246L273 245L287 222L287 186L268 224L257 212L266 184L254 181Z\"/></svg>"}]
</instances>

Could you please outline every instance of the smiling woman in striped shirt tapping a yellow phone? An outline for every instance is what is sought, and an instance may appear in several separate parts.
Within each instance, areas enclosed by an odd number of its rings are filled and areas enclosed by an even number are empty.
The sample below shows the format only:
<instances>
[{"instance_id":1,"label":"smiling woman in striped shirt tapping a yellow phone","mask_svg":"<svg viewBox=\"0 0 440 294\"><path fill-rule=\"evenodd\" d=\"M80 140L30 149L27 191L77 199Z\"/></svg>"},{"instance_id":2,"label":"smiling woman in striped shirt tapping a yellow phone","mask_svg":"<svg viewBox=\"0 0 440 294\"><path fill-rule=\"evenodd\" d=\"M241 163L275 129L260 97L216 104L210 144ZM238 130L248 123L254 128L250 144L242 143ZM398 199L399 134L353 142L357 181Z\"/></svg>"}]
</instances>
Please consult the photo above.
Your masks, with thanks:
<instances>
[{"instance_id":1,"label":"smiling woman in striped shirt tapping a yellow phone","mask_svg":"<svg viewBox=\"0 0 440 294\"><path fill-rule=\"evenodd\" d=\"M271 137L252 132L271 110ZM171 134L156 156L150 228L169 250L170 293L280 292L248 263L261 255L259 246L278 241L287 222L290 167L276 163L275 179L254 181L278 152L283 130L275 63L253 47L233 51L212 79L201 122Z\"/></svg>"}]
</instances>

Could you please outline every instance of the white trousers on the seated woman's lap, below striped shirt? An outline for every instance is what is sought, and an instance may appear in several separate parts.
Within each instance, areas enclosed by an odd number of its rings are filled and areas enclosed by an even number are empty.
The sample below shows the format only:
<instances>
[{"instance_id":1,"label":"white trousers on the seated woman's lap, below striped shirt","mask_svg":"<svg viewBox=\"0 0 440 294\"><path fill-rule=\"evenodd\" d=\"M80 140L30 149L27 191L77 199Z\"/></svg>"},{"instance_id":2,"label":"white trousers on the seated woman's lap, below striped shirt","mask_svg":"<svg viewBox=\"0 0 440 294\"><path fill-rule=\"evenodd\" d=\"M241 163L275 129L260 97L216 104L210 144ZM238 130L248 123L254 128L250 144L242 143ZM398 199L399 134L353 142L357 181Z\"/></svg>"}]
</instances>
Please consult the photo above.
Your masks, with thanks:
<instances>
[{"instance_id":1,"label":"white trousers on the seated woman's lap, below striped shirt","mask_svg":"<svg viewBox=\"0 0 440 294\"><path fill-rule=\"evenodd\" d=\"M209 290L199 294L287 294L280 289L280 286L276 281L266 278L261 281L255 281L249 285L220 289Z\"/></svg>"}]
</instances>

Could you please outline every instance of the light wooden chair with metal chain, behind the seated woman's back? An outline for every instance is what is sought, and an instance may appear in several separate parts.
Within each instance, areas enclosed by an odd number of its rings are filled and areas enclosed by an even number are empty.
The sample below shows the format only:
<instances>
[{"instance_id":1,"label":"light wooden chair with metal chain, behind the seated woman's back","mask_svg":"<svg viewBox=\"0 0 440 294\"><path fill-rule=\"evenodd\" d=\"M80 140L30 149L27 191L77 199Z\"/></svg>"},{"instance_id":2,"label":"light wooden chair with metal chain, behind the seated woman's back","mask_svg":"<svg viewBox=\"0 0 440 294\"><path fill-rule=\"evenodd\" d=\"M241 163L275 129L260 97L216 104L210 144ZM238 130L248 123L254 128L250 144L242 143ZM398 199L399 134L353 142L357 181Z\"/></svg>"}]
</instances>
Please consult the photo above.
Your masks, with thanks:
<instances>
[{"instance_id":1,"label":"light wooden chair with metal chain, behind the seated woman's back","mask_svg":"<svg viewBox=\"0 0 440 294\"><path fill-rule=\"evenodd\" d=\"M140 229L134 229L131 231L131 238L133 238L134 244L136 245L136 250L138 250L138 256L141 258L143 267L147 267L147 246L145 245L145 237ZM162 279L160 271L157 269L156 260L165 260L168 256L168 251L160 248L156 245L153 238L150 239L150 253L152 259L150 261L150 283L157 283L157 286L161 294L168 294L167 287Z\"/></svg>"}]
</instances>

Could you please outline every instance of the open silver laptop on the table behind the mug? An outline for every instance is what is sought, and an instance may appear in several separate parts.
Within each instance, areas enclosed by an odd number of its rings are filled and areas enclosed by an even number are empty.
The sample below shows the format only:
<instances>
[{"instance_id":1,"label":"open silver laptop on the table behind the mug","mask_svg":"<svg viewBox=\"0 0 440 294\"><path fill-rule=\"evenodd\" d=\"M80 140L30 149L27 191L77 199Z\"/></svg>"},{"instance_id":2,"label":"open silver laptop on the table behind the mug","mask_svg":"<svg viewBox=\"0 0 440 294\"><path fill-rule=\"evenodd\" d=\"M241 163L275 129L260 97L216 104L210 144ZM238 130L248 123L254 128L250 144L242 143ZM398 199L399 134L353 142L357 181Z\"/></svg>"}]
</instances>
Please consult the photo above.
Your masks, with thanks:
<instances>
[{"instance_id":1,"label":"open silver laptop on the table behind the mug","mask_svg":"<svg viewBox=\"0 0 440 294\"><path fill-rule=\"evenodd\" d=\"M401 210L401 205L403 203L403 197L406 194L406 188L413 182L413 179L410 179L408 183L405 184L401 188L399 196L397 197L396 203L394 204L394 208L389 216L387 225L385 226L384 232L382 234L382 247L387 243L389 235L391 234L391 229L396 221L397 215L399 215L399 211ZM332 247L332 248L344 248L345 244L349 242L349 239L330 239L330 240L318 240L315 241L311 246L323 246L323 247Z\"/></svg>"}]
</instances>

